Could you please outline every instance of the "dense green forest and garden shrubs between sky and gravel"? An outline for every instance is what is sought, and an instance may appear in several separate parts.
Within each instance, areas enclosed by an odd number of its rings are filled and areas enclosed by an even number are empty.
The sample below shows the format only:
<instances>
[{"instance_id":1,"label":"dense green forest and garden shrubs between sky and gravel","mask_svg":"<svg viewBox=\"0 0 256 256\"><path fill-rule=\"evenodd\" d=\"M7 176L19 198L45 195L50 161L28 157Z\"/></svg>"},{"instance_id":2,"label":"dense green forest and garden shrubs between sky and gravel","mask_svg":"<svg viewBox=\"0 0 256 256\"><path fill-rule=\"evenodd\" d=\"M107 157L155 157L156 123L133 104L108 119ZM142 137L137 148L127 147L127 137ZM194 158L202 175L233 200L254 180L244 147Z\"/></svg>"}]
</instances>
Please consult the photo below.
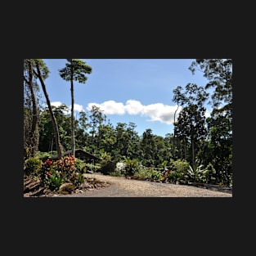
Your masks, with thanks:
<instances>
[{"instance_id":1,"label":"dense green forest and garden shrubs between sky and gravel","mask_svg":"<svg viewBox=\"0 0 256 256\"><path fill-rule=\"evenodd\" d=\"M85 61L67 59L59 71L70 82L70 115L64 104L51 106L47 95L50 70L44 61L25 59L25 177L40 178L52 190L68 182L81 184L88 170L162 182L232 186L232 61L196 59L189 70L203 72L209 82L202 87L188 81L184 88L173 90L172 101L181 109L174 115L174 130L161 137L147 128L139 136L136 124L114 126L97 106L74 116L75 84L86 83L87 74L93 72ZM206 103L212 107L209 118L205 117ZM75 149L101 160L77 159ZM63 155L67 150L72 151L70 156ZM57 155L56 161L52 155Z\"/></svg>"}]
</instances>

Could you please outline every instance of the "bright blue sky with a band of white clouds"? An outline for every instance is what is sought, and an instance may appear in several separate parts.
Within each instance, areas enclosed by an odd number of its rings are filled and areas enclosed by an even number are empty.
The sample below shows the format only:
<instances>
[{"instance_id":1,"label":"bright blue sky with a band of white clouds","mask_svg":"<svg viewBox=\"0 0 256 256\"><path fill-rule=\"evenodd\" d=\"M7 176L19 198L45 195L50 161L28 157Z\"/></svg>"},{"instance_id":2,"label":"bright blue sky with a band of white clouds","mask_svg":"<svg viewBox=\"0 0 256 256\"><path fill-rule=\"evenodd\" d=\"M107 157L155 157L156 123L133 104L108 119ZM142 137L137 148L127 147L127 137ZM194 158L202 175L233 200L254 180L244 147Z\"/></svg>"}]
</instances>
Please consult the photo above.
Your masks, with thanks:
<instances>
[{"instance_id":1,"label":"bright blue sky with a band of white clouds","mask_svg":"<svg viewBox=\"0 0 256 256\"><path fill-rule=\"evenodd\" d=\"M92 67L86 83L74 82L74 110L89 113L98 106L110 123L136 124L142 135L147 128L164 137L173 133L173 89L187 83L204 86L200 71L188 70L194 59L81 59ZM43 59L50 70L45 80L53 106L71 106L70 82L61 79L65 59ZM44 97L43 97L44 100ZM180 108L179 108L180 110ZM210 109L208 108L210 111ZM76 115L77 112L74 113ZM208 115L208 114L207 114Z\"/></svg>"}]
</instances>

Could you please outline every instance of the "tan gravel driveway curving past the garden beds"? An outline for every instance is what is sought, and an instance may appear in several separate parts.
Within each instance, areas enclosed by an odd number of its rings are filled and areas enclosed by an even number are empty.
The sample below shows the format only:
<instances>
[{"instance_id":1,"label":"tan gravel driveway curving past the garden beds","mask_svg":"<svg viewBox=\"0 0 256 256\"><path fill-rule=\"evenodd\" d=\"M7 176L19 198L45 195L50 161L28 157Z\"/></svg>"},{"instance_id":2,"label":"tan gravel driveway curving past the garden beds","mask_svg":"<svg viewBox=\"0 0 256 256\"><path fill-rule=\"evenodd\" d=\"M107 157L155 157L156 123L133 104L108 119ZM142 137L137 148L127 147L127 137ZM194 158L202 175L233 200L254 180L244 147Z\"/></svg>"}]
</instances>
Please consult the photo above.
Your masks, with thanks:
<instances>
[{"instance_id":1,"label":"tan gravel driveway curving past the garden beds","mask_svg":"<svg viewBox=\"0 0 256 256\"><path fill-rule=\"evenodd\" d=\"M101 173L87 173L87 177L94 177L99 181L108 182L104 186L92 191L74 193L70 195L55 195L56 197L232 197L231 192L212 191L196 186L176 185L170 183L148 182L112 177Z\"/></svg>"}]
</instances>

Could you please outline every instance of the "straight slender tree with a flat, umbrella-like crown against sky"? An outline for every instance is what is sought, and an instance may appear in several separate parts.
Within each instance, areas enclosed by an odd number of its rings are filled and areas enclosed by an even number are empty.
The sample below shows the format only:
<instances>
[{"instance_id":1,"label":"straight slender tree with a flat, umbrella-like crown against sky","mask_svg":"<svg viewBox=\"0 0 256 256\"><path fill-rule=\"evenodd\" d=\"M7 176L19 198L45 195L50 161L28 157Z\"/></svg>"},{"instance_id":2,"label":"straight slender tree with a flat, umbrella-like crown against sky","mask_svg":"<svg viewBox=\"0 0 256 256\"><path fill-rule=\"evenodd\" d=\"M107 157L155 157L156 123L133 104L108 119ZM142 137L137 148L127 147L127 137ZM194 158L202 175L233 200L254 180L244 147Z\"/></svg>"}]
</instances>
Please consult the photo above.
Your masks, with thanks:
<instances>
[{"instance_id":1,"label":"straight slender tree with a flat, umbrella-like crown against sky","mask_svg":"<svg viewBox=\"0 0 256 256\"><path fill-rule=\"evenodd\" d=\"M85 74L92 73L92 67L86 64L85 61L79 59L67 59L68 63L65 68L59 70L60 76L66 81L70 81L71 91L71 150L74 155L75 141L74 141L74 81L79 83L86 83L87 76Z\"/></svg>"}]
</instances>

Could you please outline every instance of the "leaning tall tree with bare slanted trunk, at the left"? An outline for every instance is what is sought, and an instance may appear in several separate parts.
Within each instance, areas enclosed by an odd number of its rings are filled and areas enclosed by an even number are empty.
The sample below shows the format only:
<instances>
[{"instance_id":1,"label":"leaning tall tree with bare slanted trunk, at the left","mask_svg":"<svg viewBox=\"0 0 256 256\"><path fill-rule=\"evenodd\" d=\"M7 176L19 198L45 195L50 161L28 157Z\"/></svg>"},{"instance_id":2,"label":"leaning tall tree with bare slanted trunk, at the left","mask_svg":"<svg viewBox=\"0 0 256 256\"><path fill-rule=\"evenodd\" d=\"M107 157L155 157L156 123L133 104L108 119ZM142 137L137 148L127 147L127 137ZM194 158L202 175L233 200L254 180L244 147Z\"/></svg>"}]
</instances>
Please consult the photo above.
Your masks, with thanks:
<instances>
[{"instance_id":1,"label":"leaning tall tree with bare slanted trunk, at the left","mask_svg":"<svg viewBox=\"0 0 256 256\"><path fill-rule=\"evenodd\" d=\"M33 61L33 63L34 63L34 74L39 79L39 81L42 85L42 88L43 88L44 96L46 97L47 106L48 106L48 109L49 109L50 114L51 114L52 125L53 125L53 129L54 129L54 133L55 133L57 157L58 157L58 159L61 159L62 152L61 152L61 142L60 142L60 136L59 136L59 129L58 129L58 125L56 123L55 115L52 111L51 101L50 101L50 98L49 98L48 93L47 93L46 84L44 83L44 79L47 79L47 77L48 77L49 70L48 70L47 65L45 64L45 62L43 60L34 59L34 60L31 60L31 61Z\"/></svg>"}]
</instances>

